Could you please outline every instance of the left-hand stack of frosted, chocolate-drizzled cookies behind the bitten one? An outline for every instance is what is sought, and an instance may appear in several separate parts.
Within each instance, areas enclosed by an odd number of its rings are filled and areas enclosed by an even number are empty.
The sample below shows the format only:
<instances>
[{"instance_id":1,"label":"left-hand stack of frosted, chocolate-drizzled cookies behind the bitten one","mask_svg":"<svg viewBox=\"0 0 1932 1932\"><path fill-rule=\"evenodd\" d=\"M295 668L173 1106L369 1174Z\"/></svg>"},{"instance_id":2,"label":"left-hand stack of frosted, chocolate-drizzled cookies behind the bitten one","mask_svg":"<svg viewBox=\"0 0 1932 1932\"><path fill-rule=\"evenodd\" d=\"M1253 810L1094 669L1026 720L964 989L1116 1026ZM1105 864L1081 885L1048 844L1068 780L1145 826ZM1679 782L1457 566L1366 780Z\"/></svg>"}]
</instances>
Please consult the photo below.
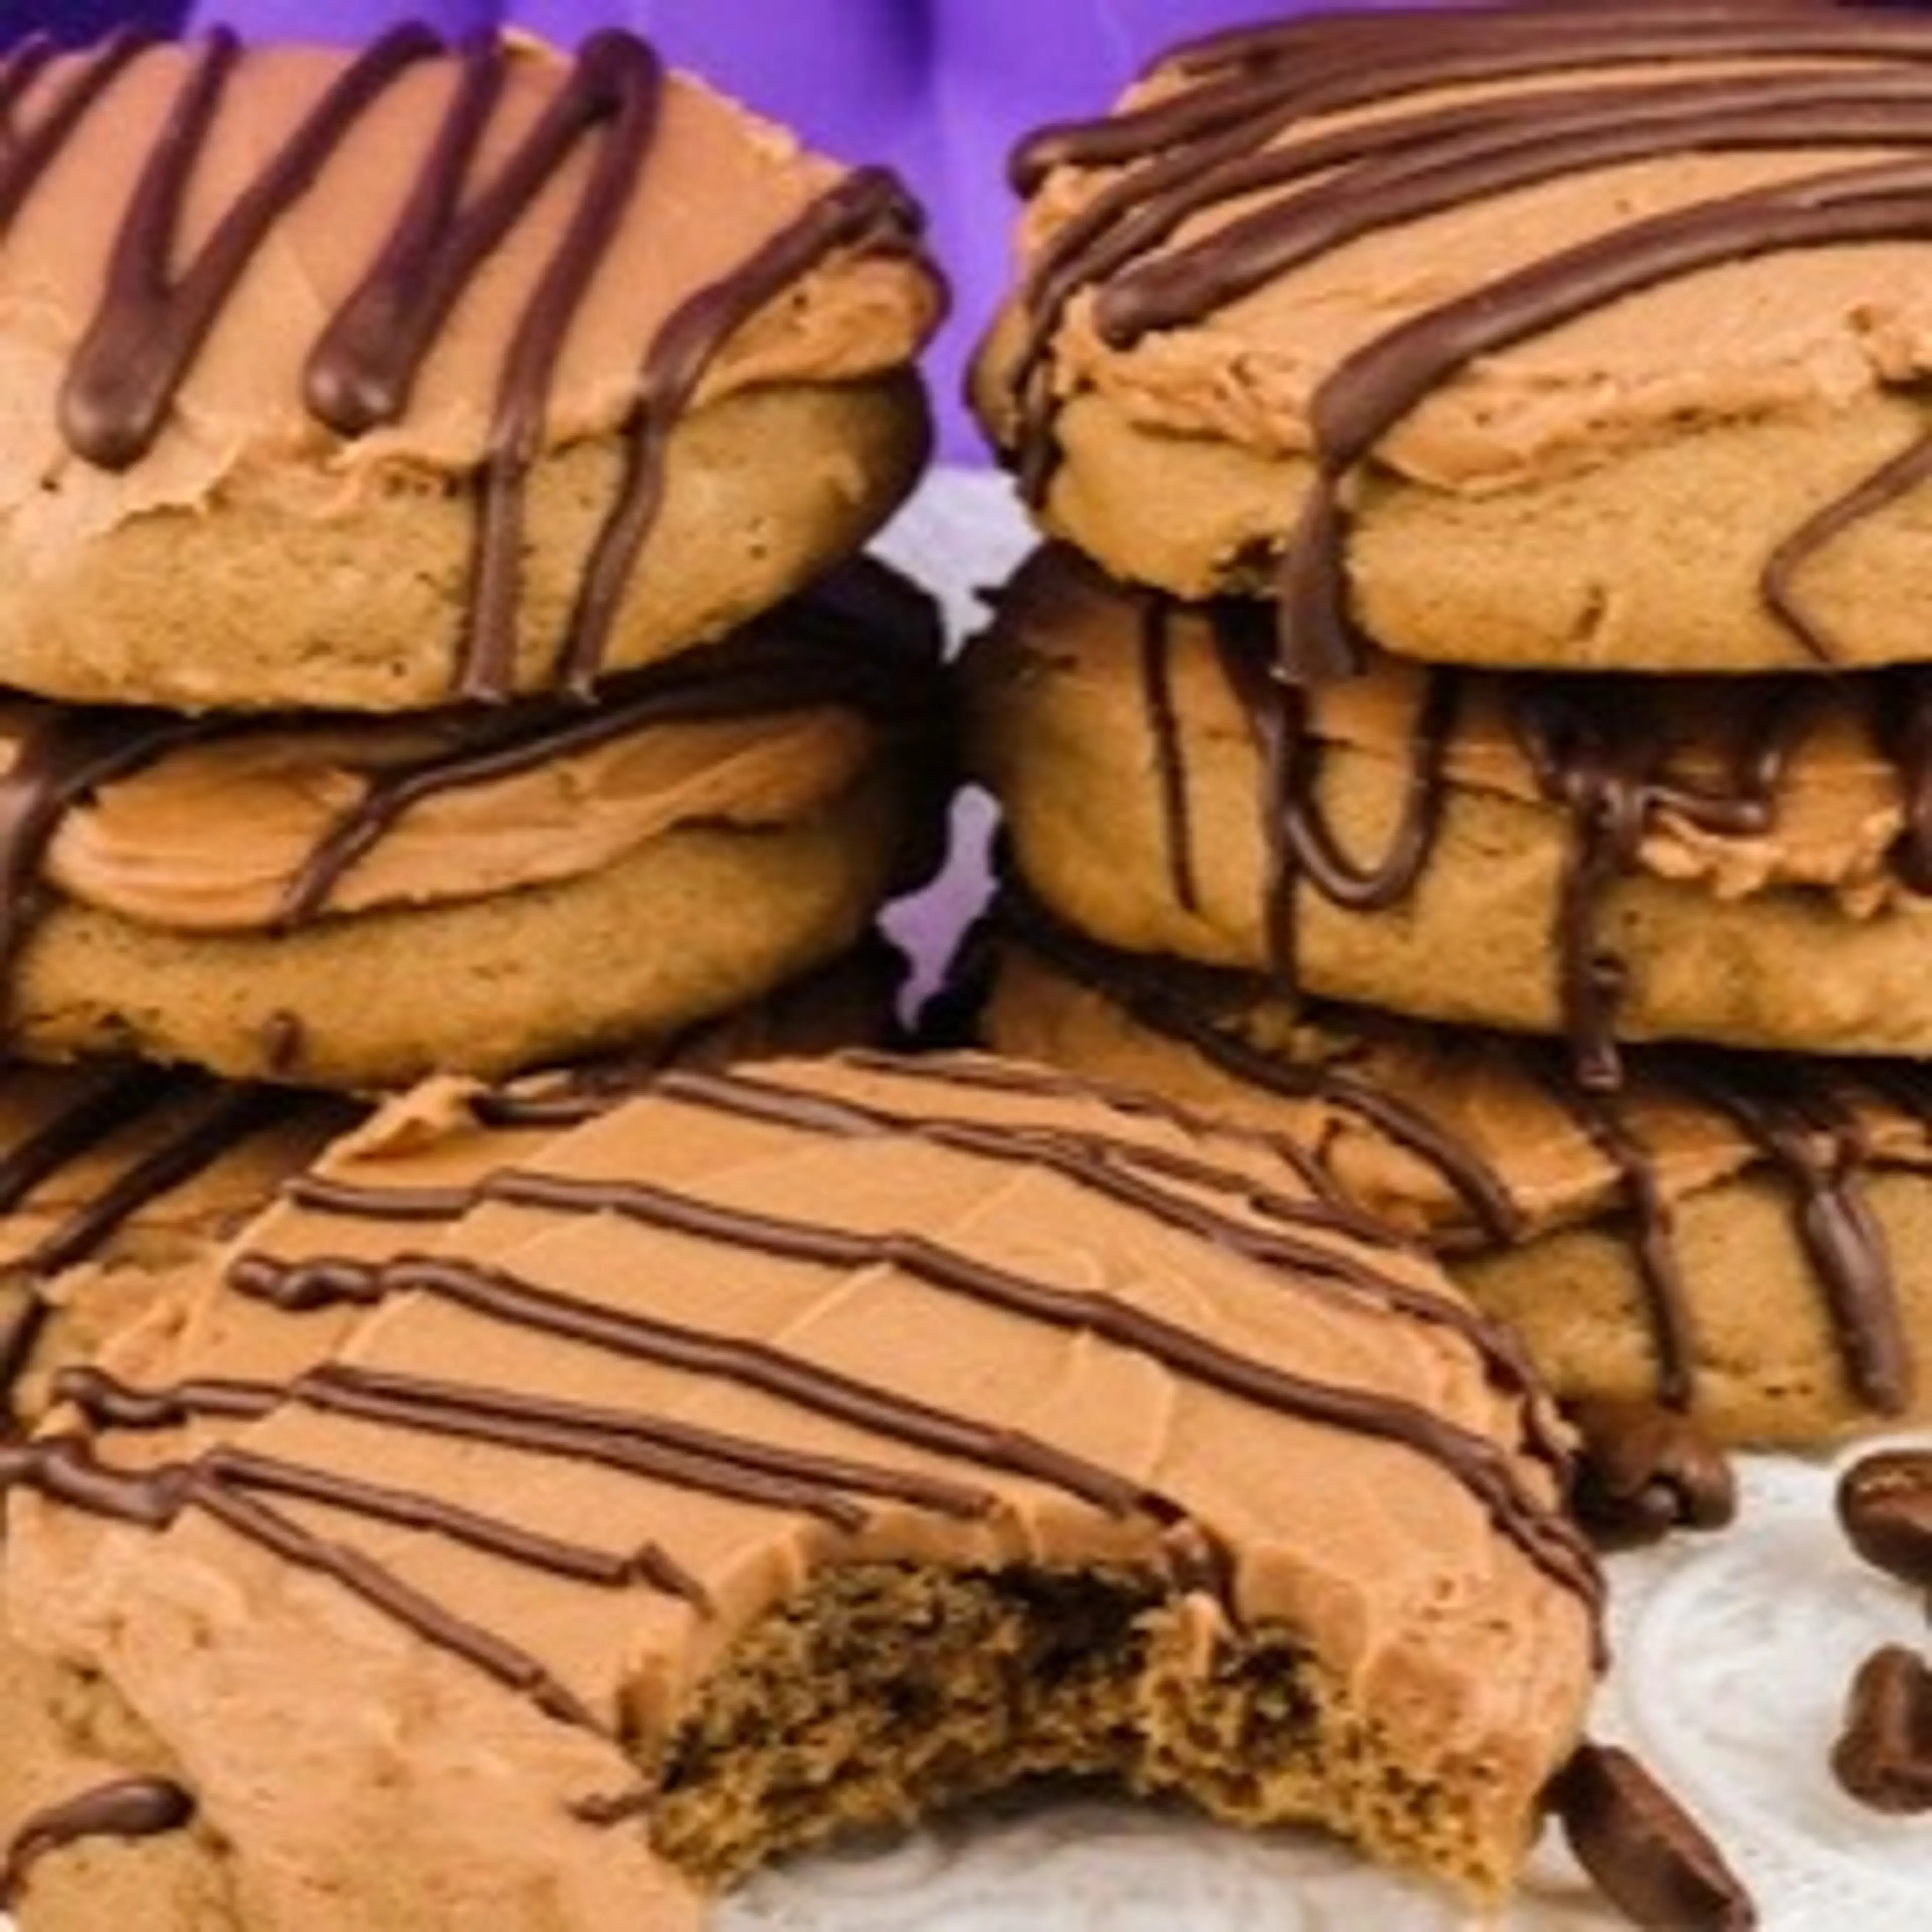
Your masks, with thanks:
<instances>
[{"instance_id":1,"label":"left-hand stack of frosted, chocolate-drizzled cookies behind the bitten one","mask_svg":"<svg viewBox=\"0 0 1932 1932\"><path fill-rule=\"evenodd\" d=\"M864 939L941 823L937 618L854 553L943 292L622 33L27 44L0 112L0 1003L135 1063L15 1084L12 1381L50 1273L342 1124L222 1080L661 1043Z\"/></svg>"}]
</instances>

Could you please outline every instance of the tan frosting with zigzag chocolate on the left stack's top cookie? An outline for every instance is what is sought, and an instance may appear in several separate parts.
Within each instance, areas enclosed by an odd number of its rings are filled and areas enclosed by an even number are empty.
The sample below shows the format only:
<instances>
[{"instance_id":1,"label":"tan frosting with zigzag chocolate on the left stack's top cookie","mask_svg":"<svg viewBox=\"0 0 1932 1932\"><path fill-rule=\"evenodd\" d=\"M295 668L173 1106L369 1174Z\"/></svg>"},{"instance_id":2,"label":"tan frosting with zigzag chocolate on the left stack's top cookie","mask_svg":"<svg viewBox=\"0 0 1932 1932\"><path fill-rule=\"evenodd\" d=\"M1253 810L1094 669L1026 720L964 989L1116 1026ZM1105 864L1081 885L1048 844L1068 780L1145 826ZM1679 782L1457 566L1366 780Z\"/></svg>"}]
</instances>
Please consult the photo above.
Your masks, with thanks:
<instances>
[{"instance_id":1,"label":"tan frosting with zigzag chocolate on the left stack's top cookie","mask_svg":"<svg viewBox=\"0 0 1932 1932\"><path fill-rule=\"evenodd\" d=\"M344 504L479 477L456 686L506 686L524 483L622 435L558 670L595 674L676 419L904 365L939 309L916 214L665 75L574 58L118 39L0 64L0 529L56 576L155 508Z\"/></svg>"}]
</instances>

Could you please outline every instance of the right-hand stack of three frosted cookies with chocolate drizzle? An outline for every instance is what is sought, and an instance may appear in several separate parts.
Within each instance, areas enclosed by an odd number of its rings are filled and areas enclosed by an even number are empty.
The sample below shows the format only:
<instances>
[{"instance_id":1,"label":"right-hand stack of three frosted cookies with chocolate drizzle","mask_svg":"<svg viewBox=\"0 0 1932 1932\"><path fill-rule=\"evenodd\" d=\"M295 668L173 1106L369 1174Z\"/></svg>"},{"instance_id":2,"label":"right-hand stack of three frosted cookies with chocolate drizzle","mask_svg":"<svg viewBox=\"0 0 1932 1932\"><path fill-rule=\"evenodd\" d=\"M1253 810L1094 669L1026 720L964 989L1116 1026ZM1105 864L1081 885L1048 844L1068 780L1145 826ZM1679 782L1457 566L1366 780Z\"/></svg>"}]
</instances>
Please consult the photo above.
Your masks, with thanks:
<instances>
[{"instance_id":1,"label":"right-hand stack of three frosted cookies with chocolate drizzle","mask_svg":"<svg viewBox=\"0 0 1932 1932\"><path fill-rule=\"evenodd\" d=\"M1293 1130L1584 1414L1932 1414L1928 75L1306 17L1016 160L987 1037Z\"/></svg>"}]
</instances>

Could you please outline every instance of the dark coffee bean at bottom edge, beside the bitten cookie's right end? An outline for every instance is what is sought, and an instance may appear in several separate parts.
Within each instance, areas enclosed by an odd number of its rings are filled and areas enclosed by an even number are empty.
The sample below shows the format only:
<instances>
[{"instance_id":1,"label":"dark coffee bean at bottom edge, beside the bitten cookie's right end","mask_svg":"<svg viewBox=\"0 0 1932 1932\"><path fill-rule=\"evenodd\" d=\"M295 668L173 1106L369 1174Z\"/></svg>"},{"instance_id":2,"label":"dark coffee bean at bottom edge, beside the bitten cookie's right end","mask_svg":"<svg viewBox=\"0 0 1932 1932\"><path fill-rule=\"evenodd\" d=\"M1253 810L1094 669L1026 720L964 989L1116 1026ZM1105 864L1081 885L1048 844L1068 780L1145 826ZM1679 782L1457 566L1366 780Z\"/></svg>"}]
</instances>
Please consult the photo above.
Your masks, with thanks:
<instances>
[{"instance_id":1,"label":"dark coffee bean at bottom edge, beside the bitten cookie's right end","mask_svg":"<svg viewBox=\"0 0 1932 1932\"><path fill-rule=\"evenodd\" d=\"M1549 1783L1577 1862L1633 1924L1747 1932L1750 1893L1690 1814L1615 1745L1578 1745Z\"/></svg>"}]
</instances>

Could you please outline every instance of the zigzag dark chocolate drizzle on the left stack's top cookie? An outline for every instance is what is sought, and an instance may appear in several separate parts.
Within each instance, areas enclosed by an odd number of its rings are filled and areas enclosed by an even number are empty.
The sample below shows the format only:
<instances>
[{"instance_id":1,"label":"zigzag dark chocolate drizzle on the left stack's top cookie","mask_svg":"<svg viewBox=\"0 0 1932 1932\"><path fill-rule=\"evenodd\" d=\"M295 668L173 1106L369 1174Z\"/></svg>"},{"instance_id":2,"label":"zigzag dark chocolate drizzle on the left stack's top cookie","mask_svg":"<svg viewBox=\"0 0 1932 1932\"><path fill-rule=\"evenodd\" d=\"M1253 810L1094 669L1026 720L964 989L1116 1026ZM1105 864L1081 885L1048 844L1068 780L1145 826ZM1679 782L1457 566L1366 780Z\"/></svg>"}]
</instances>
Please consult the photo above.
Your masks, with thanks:
<instances>
[{"instance_id":1,"label":"zigzag dark chocolate drizzle on the left stack's top cookie","mask_svg":"<svg viewBox=\"0 0 1932 1932\"><path fill-rule=\"evenodd\" d=\"M0 114L15 139L0 149L0 226L33 193L114 79L151 43L120 37L77 60L21 50L0 68ZM618 31L591 35L535 126L487 180L473 180L516 54L495 41L450 56L419 23L390 29L325 89L282 145L222 211L193 259L176 269L182 209L247 52L216 29L187 64L124 211L106 290L70 359L60 427L85 462L126 469L149 454L176 396L249 263L328 162L412 68L452 68L442 120L394 228L367 274L323 321L303 373L303 402L325 427L361 437L400 417L450 313L543 189L591 145L576 201L512 325L477 479L477 531L452 692L506 697L516 682L526 481L541 454L556 367L570 328L638 193L657 139L665 89L655 52ZM41 81L54 68L58 81ZM37 85L39 83L39 85ZM44 108L39 95L58 87ZM39 108L37 114L23 114ZM12 124L29 120L17 133ZM705 369L730 336L840 251L902 253L920 216L885 170L838 182L730 274L690 296L647 344L620 437L624 473L591 545L553 674L587 692L632 570L655 522L665 448Z\"/></svg>"}]
</instances>

